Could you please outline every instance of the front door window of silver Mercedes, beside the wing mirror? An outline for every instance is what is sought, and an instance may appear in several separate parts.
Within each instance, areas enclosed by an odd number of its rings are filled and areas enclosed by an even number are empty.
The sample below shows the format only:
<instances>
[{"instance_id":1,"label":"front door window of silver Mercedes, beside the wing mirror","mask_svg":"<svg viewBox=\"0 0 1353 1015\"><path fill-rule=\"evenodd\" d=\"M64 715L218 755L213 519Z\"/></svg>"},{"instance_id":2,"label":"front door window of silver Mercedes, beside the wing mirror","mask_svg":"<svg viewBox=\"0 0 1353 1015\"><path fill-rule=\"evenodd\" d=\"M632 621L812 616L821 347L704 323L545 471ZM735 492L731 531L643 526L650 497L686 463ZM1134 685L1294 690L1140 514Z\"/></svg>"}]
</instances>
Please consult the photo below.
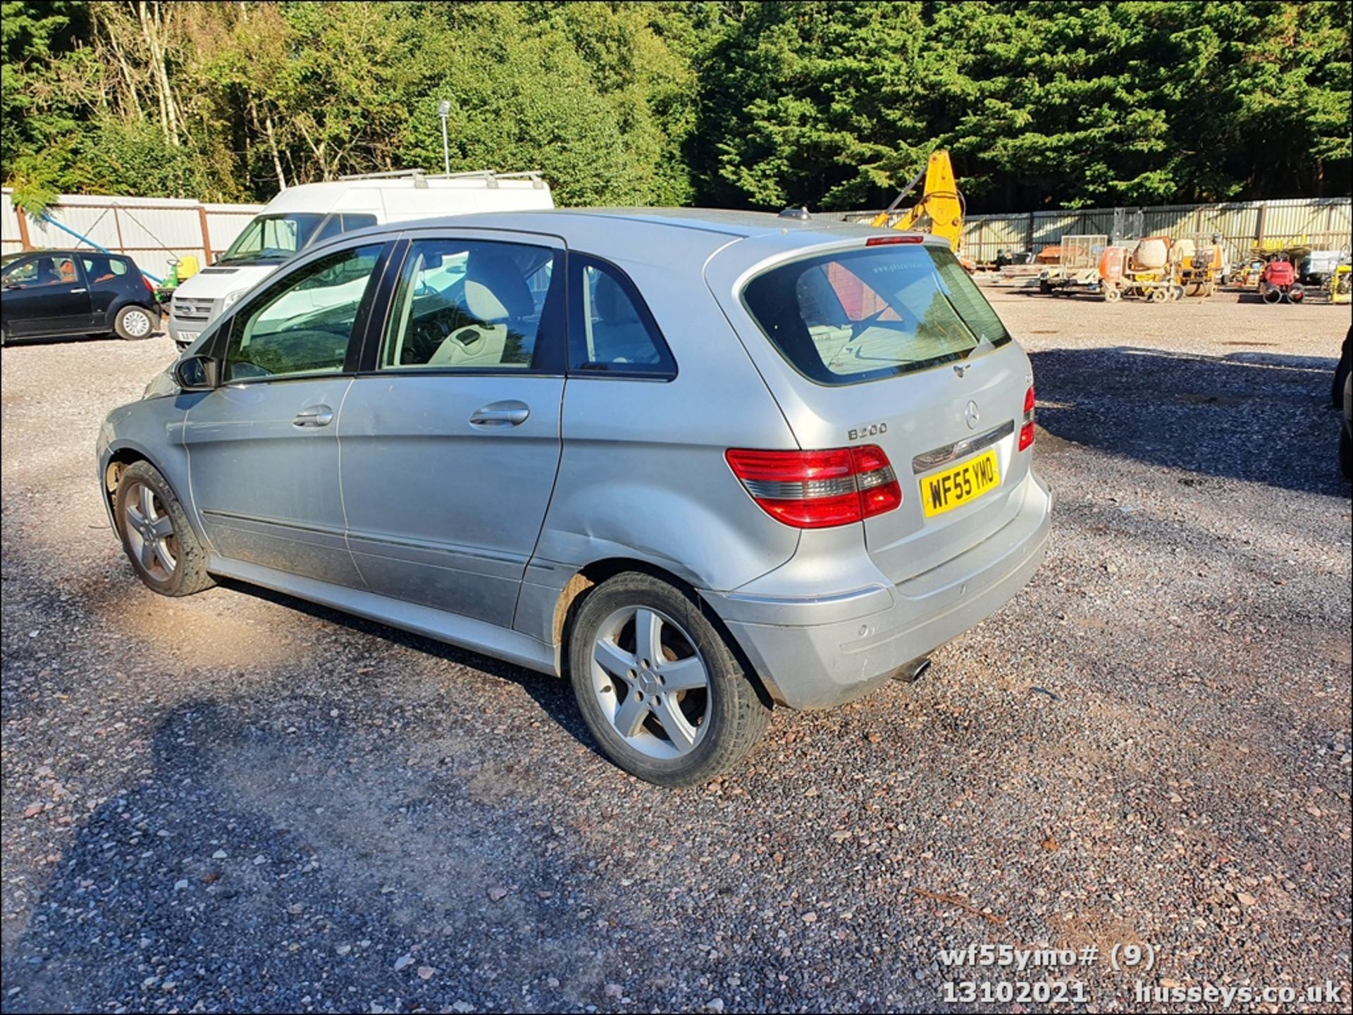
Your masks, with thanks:
<instances>
[{"instance_id":1,"label":"front door window of silver Mercedes, beside the wing mirror","mask_svg":"<svg viewBox=\"0 0 1353 1015\"><path fill-rule=\"evenodd\" d=\"M342 370L379 257L379 243L341 250L271 287L231 323L225 378Z\"/></svg>"}]
</instances>

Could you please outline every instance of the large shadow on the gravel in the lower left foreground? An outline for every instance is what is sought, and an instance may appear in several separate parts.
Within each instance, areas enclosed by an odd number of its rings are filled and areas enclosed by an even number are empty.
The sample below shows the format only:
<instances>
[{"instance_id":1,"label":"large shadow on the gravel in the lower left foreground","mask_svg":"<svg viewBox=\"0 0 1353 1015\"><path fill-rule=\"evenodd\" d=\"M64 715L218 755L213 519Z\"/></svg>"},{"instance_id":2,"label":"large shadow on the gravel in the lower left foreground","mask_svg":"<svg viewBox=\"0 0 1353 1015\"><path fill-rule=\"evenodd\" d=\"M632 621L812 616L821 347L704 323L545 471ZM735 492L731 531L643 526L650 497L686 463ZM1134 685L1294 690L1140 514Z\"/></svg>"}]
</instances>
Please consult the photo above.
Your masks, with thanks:
<instances>
[{"instance_id":1,"label":"large shadow on the gravel in the lower left foreground","mask_svg":"<svg viewBox=\"0 0 1353 1015\"><path fill-rule=\"evenodd\" d=\"M606 972L580 916L652 937L482 760L410 764L348 701L277 722L287 704L161 718L143 778L80 819L7 949L4 1011L578 1010Z\"/></svg>"}]
</instances>

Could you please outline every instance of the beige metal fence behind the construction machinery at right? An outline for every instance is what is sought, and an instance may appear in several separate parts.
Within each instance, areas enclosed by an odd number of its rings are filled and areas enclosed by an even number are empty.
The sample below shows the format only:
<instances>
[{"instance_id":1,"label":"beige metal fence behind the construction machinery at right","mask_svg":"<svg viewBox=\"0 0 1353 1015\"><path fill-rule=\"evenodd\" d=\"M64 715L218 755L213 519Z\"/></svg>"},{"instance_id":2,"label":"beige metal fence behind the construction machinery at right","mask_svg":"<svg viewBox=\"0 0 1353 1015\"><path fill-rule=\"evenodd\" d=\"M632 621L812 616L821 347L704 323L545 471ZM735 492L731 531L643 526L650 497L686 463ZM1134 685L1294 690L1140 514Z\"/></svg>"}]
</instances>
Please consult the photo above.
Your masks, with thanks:
<instances>
[{"instance_id":1,"label":"beige metal fence behind the construction machinery at right","mask_svg":"<svg viewBox=\"0 0 1353 1015\"><path fill-rule=\"evenodd\" d=\"M877 214L824 212L824 216L859 222ZM1120 230L1119 239L1128 235L1183 238L1220 232L1237 255L1256 249L1281 250L1298 243L1322 250L1348 250L1353 242L1353 199L1298 197L1281 201L969 215L963 223L963 253L974 261L994 261L1001 250L1038 253L1045 246L1058 243L1063 235L1112 235L1115 216ZM1126 234L1122 232L1124 227Z\"/></svg>"}]
</instances>

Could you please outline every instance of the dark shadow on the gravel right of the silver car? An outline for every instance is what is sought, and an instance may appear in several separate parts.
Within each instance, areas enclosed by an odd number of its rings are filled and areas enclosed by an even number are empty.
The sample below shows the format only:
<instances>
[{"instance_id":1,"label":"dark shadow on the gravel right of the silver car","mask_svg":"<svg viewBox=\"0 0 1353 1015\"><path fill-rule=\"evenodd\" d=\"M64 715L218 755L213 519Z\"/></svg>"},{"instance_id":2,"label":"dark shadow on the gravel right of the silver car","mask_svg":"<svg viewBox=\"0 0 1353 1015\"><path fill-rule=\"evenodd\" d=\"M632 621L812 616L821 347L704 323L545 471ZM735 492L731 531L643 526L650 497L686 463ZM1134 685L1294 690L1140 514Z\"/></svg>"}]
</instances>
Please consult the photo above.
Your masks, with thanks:
<instances>
[{"instance_id":1,"label":"dark shadow on the gravel right of the silver car","mask_svg":"<svg viewBox=\"0 0 1353 1015\"><path fill-rule=\"evenodd\" d=\"M1149 465L1348 496L1329 408L1334 358L1153 349L1031 353L1038 423Z\"/></svg>"}]
</instances>

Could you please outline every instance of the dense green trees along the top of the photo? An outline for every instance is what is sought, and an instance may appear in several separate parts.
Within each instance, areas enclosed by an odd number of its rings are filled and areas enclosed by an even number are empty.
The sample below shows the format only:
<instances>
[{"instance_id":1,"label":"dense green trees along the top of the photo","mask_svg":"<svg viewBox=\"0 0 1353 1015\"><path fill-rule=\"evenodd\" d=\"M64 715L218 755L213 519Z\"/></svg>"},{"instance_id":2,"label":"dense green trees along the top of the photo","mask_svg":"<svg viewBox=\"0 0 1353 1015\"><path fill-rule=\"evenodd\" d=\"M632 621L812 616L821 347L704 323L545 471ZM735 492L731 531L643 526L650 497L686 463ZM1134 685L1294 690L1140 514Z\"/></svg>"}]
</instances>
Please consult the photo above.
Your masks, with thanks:
<instances>
[{"instance_id":1,"label":"dense green trees along the top of the photo","mask_svg":"<svg viewBox=\"0 0 1353 1015\"><path fill-rule=\"evenodd\" d=\"M0 3L3 176L262 200L442 161L567 204L974 211L1349 193L1344 3Z\"/></svg>"}]
</instances>

